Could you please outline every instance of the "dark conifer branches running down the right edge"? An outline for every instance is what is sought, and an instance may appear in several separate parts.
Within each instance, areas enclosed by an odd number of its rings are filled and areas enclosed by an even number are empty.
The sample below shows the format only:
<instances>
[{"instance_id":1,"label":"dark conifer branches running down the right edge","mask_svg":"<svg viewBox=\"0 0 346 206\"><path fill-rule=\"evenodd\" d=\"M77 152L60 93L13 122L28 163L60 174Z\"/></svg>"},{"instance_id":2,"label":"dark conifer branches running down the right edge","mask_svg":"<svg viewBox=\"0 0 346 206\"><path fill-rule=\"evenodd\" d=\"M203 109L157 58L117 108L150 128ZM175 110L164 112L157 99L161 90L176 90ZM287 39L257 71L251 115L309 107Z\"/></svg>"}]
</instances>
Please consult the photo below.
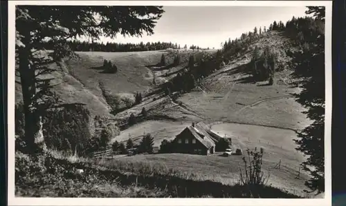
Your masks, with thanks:
<instances>
[{"instance_id":1,"label":"dark conifer branches running down the right edge","mask_svg":"<svg viewBox=\"0 0 346 206\"><path fill-rule=\"evenodd\" d=\"M325 26L324 7L308 7L307 14L314 14L316 21L311 21L309 32L304 32L302 51L293 54L297 63L295 76L303 78L302 92L297 94L297 101L307 107L311 125L298 132L297 150L308 156L302 163L312 178L305 184L317 192L325 191ZM308 168L310 167L310 168Z\"/></svg>"}]
</instances>

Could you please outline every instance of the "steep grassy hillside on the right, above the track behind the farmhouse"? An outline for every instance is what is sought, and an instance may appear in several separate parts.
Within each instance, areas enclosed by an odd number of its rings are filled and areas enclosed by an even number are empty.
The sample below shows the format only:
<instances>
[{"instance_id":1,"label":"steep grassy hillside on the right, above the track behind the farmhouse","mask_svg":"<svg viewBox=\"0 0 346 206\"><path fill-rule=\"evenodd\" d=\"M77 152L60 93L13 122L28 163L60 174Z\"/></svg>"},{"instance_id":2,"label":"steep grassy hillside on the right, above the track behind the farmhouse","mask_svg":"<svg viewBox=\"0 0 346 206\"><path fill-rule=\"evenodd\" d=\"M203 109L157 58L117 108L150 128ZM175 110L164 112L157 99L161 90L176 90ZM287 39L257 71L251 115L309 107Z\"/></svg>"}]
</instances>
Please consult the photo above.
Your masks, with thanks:
<instances>
[{"instance_id":1,"label":"steep grassy hillside on the right, above the track behind the farmhouse","mask_svg":"<svg viewBox=\"0 0 346 206\"><path fill-rule=\"evenodd\" d=\"M269 45L279 52L279 61L288 64L291 60L284 52L290 48L289 39L274 32L255 42L264 48ZM183 103L211 121L230 121L268 125L301 130L311 122L302 114L304 108L296 103L293 93L298 87L289 85L293 79L290 70L275 73L275 85L266 82L253 83L246 66L251 61L251 49L244 56L226 65L215 74L208 76L201 88L203 92L191 92L181 97ZM217 105L217 106L215 106Z\"/></svg>"}]
</instances>

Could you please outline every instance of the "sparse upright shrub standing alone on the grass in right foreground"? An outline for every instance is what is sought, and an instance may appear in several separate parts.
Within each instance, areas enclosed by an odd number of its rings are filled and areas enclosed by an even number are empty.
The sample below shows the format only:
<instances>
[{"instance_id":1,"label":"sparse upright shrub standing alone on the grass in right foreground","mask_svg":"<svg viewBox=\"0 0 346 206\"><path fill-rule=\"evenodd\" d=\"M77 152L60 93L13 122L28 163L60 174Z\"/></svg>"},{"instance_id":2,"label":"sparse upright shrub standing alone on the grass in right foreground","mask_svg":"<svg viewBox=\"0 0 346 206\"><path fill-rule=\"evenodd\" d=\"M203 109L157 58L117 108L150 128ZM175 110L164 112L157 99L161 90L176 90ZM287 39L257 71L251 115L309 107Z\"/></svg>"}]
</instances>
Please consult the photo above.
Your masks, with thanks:
<instances>
[{"instance_id":1,"label":"sparse upright shrub standing alone on the grass in right foreground","mask_svg":"<svg viewBox=\"0 0 346 206\"><path fill-rule=\"evenodd\" d=\"M256 186L264 186L268 182L268 176L264 177L264 172L262 172L262 158L264 154L263 148L260 151L246 150L248 154L248 161L246 161L245 156L243 157L244 162L244 172L242 169L239 171L240 183L243 185L248 185L255 189Z\"/></svg>"}]
</instances>

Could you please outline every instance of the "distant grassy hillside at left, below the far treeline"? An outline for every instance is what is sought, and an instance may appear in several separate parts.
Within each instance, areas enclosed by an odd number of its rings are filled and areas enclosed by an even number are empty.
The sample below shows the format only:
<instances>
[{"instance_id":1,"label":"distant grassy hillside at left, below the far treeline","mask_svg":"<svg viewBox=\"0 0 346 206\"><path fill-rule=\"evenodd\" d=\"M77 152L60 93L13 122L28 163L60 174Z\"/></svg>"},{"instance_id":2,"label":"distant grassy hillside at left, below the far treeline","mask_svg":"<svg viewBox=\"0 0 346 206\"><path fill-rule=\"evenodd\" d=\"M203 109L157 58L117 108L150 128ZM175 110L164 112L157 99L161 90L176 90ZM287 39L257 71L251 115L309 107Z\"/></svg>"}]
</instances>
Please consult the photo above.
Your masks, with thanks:
<instances>
[{"instance_id":1,"label":"distant grassy hillside at left, below the far treeline","mask_svg":"<svg viewBox=\"0 0 346 206\"><path fill-rule=\"evenodd\" d=\"M167 71L152 72L150 68L161 59L161 54L168 54L167 62L173 61L173 53L167 51L149 52L77 52L81 59L65 59L58 65L53 63L50 68L57 70L43 78L55 78L54 88L62 101L66 103L86 103L93 115L109 115L110 107L102 96L100 84L112 94L133 98L135 92L147 92L152 85L153 76ZM183 52L183 65L191 51ZM104 74L104 59L116 63L118 73ZM171 71L180 70L172 68ZM155 73L155 74L154 74ZM19 80L19 79L17 79ZM16 102L21 101L21 86L16 84Z\"/></svg>"}]
</instances>

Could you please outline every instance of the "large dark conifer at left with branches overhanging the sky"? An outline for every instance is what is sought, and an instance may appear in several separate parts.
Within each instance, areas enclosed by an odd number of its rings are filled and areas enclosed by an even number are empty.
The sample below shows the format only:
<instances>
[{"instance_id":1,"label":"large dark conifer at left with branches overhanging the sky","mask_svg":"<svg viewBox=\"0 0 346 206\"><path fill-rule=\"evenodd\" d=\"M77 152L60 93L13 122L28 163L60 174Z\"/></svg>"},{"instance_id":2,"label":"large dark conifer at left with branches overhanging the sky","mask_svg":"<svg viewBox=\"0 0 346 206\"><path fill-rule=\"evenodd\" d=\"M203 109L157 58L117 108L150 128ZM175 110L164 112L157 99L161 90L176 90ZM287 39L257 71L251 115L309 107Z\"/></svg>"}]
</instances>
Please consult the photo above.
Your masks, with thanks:
<instances>
[{"instance_id":1,"label":"large dark conifer at left with branches overhanging the sky","mask_svg":"<svg viewBox=\"0 0 346 206\"><path fill-rule=\"evenodd\" d=\"M162 7L156 6L16 6L19 62L16 83L21 84L23 95L28 152L39 152L35 134L39 130L40 111L57 100L51 92L52 79L40 79L39 76L52 72L48 64L73 54L66 47L66 40L78 35L98 39L100 34L106 37L115 37L119 33L131 36L142 36L143 32L153 34L156 20L163 12ZM55 45L51 58L37 53L44 50L42 43L46 39L51 39Z\"/></svg>"}]
</instances>

